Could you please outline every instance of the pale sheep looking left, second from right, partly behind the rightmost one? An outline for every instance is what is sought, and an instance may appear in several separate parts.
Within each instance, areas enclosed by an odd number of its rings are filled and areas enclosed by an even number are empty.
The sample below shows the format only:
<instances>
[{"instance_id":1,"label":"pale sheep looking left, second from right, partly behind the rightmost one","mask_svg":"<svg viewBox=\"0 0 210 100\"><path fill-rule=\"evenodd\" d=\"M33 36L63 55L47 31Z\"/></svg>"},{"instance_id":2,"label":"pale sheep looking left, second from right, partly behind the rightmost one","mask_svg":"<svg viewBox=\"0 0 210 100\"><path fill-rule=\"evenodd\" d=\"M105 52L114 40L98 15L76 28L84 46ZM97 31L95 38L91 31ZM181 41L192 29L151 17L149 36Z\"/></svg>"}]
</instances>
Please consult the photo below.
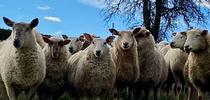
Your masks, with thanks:
<instances>
[{"instance_id":1,"label":"pale sheep looking left, second from right, partly behind the rightmost one","mask_svg":"<svg viewBox=\"0 0 210 100\"><path fill-rule=\"evenodd\" d=\"M188 54L181 48L181 45L184 44L187 38L184 34L186 34L186 32L173 33L172 42L170 43L171 47L164 56L167 68L170 68L173 78L175 79L175 95L178 94L178 91L184 89L185 85L183 70Z\"/></svg>"}]
</instances>

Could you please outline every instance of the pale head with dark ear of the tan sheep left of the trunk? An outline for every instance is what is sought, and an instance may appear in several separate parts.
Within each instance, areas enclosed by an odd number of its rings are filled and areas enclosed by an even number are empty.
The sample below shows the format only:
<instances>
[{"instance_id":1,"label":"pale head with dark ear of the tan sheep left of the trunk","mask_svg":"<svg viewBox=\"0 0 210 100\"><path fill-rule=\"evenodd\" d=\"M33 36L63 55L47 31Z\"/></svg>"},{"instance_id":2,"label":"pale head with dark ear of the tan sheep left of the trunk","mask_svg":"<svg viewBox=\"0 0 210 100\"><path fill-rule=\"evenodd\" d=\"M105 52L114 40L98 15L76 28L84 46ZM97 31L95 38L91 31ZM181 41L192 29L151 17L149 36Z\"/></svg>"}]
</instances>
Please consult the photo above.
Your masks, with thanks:
<instances>
[{"instance_id":1,"label":"pale head with dark ear of the tan sheep left of the trunk","mask_svg":"<svg viewBox=\"0 0 210 100\"><path fill-rule=\"evenodd\" d=\"M135 42L135 38L131 31L117 31L115 29L109 29L109 31L113 35L118 36L116 42L122 50L129 50L130 48L132 48Z\"/></svg>"}]
</instances>

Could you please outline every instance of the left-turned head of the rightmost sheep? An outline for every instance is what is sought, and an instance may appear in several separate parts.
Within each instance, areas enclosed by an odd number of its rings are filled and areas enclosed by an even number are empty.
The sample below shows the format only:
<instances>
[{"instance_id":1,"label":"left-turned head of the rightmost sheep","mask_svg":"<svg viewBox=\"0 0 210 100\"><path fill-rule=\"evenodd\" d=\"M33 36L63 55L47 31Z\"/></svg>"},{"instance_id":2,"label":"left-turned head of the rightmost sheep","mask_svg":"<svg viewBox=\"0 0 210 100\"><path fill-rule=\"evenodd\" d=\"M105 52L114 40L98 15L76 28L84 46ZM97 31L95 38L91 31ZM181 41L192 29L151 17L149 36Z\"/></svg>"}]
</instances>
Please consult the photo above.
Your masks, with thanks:
<instances>
[{"instance_id":1,"label":"left-turned head of the rightmost sheep","mask_svg":"<svg viewBox=\"0 0 210 100\"><path fill-rule=\"evenodd\" d=\"M196 52L204 50L207 47L206 35L207 30L192 29L187 32L187 40L184 44L186 52Z\"/></svg>"}]
</instances>

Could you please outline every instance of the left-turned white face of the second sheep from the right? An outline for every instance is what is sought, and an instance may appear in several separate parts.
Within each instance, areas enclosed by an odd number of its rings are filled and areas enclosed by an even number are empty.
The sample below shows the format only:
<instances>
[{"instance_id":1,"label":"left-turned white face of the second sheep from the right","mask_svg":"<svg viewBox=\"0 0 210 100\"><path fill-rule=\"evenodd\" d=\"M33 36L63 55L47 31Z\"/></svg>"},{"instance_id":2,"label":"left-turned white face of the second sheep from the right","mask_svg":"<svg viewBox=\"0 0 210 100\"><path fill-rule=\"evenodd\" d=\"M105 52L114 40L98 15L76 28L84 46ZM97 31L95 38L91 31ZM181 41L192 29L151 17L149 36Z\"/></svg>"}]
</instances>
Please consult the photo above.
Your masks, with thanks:
<instances>
[{"instance_id":1,"label":"left-turned white face of the second sheep from the right","mask_svg":"<svg viewBox=\"0 0 210 100\"><path fill-rule=\"evenodd\" d=\"M184 48L184 43L187 40L187 32L173 33L173 39L170 43L171 48Z\"/></svg>"}]
</instances>

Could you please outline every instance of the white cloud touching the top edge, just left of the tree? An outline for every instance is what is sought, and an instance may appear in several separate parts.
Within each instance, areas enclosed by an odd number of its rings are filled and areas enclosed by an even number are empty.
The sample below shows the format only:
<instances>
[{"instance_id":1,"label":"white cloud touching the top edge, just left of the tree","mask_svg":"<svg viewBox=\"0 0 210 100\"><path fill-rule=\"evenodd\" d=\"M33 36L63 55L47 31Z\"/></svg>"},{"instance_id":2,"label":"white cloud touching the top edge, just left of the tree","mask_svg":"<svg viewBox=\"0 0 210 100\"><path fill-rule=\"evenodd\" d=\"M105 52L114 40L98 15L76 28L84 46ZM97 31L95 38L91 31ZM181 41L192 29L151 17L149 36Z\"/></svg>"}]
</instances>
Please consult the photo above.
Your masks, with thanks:
<instances>
[{"instance_id":1,"label":"white cloud touching the top edge, just left of the tree","mask_svg":"<svg viewBox=\"0 0 210 100\"><path fill-rule=\"evenodd\" d=\"M105 8L104 0L79 0L79 2L99 9Z\"/></svg>"}]
</instances>

